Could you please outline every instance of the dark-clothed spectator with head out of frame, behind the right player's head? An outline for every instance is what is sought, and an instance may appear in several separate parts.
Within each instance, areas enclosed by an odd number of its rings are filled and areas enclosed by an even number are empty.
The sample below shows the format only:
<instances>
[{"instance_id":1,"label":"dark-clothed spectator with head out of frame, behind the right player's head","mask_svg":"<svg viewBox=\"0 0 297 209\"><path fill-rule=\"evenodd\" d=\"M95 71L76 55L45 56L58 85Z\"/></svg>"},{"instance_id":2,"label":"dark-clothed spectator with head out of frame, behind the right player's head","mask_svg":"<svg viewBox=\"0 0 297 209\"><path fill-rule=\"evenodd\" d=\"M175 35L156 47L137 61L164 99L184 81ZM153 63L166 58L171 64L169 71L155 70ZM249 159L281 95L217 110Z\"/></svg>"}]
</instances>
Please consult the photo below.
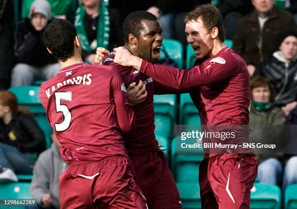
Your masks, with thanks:
<instances>
[{"instance_id":1,"label":"dark-clothed spectator with head out of frame, behind the right player's head","mask_svg":"<svg viewBox=\"0 0 297 209\"><path fill-rule=\"evenodd\" d=\"M253 6L250 0L220 0L218 9L224 17L225 38L232 40L238 20L250 13Z\"/></svg>"}]
</instances>

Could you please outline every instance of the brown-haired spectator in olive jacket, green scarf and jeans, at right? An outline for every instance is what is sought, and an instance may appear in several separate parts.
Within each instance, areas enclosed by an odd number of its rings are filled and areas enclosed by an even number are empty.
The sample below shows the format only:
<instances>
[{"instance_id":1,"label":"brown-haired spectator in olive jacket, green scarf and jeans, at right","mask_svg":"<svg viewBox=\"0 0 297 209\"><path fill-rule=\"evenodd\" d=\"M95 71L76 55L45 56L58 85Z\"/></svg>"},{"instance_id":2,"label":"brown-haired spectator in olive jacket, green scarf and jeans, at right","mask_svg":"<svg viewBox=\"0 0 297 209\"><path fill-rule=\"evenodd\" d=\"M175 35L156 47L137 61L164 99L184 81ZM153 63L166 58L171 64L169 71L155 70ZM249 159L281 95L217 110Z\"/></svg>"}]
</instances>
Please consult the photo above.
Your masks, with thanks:
<instances>
[{"instance_id":1,"label":"brown-haired spectator in olive jacket, green scarf and jeans, at right","mask_svg":"<svg viewBox=\"0 0 297 209\"><path fill-rule=\"evenodd\" d=\"M283 125L285 117L280 108L274 106L274 95L271 83L262 76L256 76L252 79L252 102L249 112L249 124L251 125L251 133L249 139L251 143L270 144L267 140L281 140L281 131L271 131L273 127L269 125ZM268 125L252 126L252 125ZM272 137L268 137L265 131L270 129L270 132L277 133ZM275 141L274 141L275 144ZM258 154L262 152L263 154ZM260 182L277 184L277 179L282 174L282 163L284 155L282 152L278 153L264 153L264 150L258 150L258 178Z\"/></svg>"}]
</instances>

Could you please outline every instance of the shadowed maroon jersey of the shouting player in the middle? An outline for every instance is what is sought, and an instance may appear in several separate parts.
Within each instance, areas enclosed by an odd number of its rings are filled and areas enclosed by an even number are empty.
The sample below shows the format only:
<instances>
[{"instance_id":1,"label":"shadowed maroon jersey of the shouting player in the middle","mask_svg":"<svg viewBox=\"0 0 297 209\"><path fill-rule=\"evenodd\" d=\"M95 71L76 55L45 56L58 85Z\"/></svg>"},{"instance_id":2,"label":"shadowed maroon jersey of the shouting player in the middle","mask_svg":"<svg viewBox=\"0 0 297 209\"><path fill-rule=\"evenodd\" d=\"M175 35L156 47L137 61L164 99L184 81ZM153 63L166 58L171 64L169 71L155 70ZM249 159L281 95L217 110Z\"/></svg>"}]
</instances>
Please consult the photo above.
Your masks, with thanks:
<instances>
[{"instance_id":1,"label":"shadowed maroon jersey of the shouting player in the middle","mask_svg":"<svg viewBox=\"0 0 297 209\"><path fill-rule=\"evenodd\" d=\"M139 70L133 67L125 67L113 62L114 53L111 52L105 56L100 64L114 66L123 79L125 86L130 83L142 80L146 84L148 96L146 100L133 108L136 126L133 130L124 136L125 146L129 153L143 154L158 150L158 141L156 140L155 131L155 112L153 105L154 94L177 94L179 91L175 88L170 88L161 83L155 82L147 75L140 73Z\"/></svg>"}]
</instances>

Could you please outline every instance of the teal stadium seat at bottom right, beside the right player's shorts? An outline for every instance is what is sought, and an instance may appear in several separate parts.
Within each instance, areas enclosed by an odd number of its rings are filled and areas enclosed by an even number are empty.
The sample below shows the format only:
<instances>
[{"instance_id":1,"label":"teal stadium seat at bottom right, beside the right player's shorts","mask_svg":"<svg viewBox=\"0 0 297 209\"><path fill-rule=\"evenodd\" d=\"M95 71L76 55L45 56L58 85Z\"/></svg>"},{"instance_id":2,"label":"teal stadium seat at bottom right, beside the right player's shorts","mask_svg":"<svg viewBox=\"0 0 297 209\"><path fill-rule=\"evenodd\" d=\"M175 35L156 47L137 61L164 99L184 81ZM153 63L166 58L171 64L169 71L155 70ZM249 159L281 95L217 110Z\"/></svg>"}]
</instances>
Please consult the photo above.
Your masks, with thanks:
<instances>
[{"instance_id":1,"label":"teal stadium seat at bottom right, beside the right player's shorts","mask_svg":"<svg viewBox=\"0 0 297 209\"><path fill-rule=\"evenodd\" d=\"M277 185L256 182L250 196L251 209L280 209L281 189Z\"/></svg>"}]
</instances>

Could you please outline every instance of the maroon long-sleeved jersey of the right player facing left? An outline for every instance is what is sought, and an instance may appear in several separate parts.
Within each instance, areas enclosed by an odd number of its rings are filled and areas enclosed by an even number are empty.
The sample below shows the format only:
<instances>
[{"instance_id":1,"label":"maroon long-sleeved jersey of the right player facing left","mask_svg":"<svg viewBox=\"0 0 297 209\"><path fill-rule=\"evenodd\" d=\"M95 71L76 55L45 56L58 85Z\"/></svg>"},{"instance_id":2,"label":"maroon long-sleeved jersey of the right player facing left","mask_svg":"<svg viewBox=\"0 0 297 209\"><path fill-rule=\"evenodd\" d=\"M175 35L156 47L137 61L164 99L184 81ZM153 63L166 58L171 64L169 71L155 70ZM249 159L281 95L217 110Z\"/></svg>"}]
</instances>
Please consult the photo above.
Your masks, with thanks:
<instances>
[{"instance_id":1,"label":"maroon long-sleeved jersey of the right player facing left","mask_svg":"<svg viewBox=\"0 0 297 209\"><path fill-rule=\"evenodd\" d=\"M202 125L247 125L251 98L250 78L245 61L225 47L202 64L179 70L143 60L140 72L170 87L199 88L191 94ZM238 139L240 142L247 138ZM210 157L213 155L210 155ZM208 157L207 155L205 157Z\"/></svg>"}]
</instances>

